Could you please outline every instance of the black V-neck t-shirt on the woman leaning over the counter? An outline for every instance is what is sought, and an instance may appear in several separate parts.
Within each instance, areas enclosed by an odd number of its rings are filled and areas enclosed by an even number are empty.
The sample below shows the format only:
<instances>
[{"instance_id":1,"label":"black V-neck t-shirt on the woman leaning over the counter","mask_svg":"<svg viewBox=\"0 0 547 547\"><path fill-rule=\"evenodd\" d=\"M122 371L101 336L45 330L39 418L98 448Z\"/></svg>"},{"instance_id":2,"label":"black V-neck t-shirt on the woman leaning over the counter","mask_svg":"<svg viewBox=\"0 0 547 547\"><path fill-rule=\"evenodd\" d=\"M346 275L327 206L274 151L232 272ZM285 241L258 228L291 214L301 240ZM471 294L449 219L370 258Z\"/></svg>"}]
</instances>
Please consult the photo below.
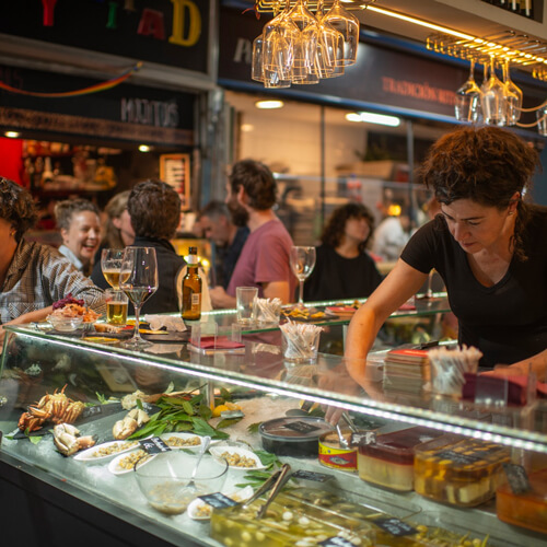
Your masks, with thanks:
<instances>
[{"instance_id":1,"label":"black V-neck t-shirt on the woman leaning over the counter","mask_svg":"<svg viewBox=\"0 0 547 547\"><path fill-rule=\"evenodd\" d=\"M492 287L475 278L467 253L439 214L420 228L401 259L424 274L434 268L443 278L452 311L459 323L459 344L479 348L484 366L512 364L547 348L547 208L533 206L523 233L527 260L513 257Z\"/></svg>"}]
</instances>

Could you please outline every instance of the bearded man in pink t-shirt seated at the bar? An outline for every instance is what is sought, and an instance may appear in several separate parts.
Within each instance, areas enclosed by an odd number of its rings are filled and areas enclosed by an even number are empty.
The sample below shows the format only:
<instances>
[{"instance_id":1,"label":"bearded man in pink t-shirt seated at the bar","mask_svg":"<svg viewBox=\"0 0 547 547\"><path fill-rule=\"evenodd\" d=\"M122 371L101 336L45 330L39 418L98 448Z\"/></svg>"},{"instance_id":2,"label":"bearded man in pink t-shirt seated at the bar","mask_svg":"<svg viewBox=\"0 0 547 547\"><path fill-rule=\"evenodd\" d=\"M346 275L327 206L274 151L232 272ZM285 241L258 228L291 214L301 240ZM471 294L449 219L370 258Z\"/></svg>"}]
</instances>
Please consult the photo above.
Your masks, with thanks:
<instances>
[{"instance_id":1,"label":"bearded man in pink t-shirt seated at the bar","mask_svg":"<svg viewBox=\"0 0 547 547\"><path fill-rule=\"evenodd\" d=\"M214 307L235 307L236 287L258 287L260 298L292 302L296 278L289 256L293 245L289 232L272 207L277 184L270 170L253 160L237 162L226 186L226 203L247 217L251 234L235 265L228 289L211 289Z\"/></svg>"}]
</instances>

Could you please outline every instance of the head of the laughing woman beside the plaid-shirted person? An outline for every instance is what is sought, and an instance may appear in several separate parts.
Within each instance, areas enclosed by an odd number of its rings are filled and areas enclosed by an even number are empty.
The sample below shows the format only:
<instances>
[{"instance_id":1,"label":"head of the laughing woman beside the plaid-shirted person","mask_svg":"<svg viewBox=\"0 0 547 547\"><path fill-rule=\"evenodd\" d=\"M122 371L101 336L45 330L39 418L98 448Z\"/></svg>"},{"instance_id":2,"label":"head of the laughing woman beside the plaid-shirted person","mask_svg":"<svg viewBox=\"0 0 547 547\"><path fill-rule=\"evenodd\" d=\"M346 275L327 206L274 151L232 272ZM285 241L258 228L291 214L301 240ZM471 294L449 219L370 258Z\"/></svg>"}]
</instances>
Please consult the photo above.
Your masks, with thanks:
<instances>
[{"instance_id":1,"label":"head of the laughing woman beside the plaid-shirted person","mask_svg":"<svg viewBox=\"0 0 547 547\"><path fill-rule=\"evenodd\" d=\"M55 206L55 218L62 237L59 253L89 276L101 238L98 209L86 199L66 199Z\"/></svg>"}]
</instances>

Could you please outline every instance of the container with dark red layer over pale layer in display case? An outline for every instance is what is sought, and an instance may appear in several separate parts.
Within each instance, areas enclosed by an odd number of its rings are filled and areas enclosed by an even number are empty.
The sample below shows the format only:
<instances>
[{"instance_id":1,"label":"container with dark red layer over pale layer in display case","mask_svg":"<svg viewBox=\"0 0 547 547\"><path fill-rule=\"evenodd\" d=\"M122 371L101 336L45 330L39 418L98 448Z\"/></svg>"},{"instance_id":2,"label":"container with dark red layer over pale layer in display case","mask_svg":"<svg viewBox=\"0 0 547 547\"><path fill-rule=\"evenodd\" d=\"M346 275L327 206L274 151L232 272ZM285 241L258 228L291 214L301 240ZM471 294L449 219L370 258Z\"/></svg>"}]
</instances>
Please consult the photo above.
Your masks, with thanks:
<instances>
[{"instance_id":1,"label":"container with dark red layer over pale layer in display case","mask_svg":"<svg viewBox=\"0 0 547 547\"><path fill-rule=\"evenodd\" d=\"M359 477L399 491L412 490L416 446L442 435L428 428L410 428L376 437L359 446Z\"/></svg>"}]
</instances>

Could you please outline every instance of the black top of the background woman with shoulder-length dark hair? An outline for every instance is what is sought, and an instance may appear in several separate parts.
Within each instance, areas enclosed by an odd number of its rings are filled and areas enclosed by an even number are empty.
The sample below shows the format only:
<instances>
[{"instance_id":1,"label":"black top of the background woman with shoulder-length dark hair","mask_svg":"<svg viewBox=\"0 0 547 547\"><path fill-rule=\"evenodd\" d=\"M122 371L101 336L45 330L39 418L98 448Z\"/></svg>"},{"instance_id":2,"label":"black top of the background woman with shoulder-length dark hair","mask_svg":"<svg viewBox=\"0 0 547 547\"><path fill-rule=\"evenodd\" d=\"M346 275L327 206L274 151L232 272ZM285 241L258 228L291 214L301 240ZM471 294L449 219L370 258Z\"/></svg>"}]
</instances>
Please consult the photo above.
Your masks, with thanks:
<instances>
[{"instance_id":1,"label":"black top of the background woman with shoulder-length dark hair","mask_svg":"<svg viewBox=\"0 0 547 547\"><path fill-rule=\"evenodd\" d=\"M368 253L340 256L331 246L316 248L315 267L304 281L304 300L345 300L369 296L382 276Z\"/></svg>"}]
</instances>

